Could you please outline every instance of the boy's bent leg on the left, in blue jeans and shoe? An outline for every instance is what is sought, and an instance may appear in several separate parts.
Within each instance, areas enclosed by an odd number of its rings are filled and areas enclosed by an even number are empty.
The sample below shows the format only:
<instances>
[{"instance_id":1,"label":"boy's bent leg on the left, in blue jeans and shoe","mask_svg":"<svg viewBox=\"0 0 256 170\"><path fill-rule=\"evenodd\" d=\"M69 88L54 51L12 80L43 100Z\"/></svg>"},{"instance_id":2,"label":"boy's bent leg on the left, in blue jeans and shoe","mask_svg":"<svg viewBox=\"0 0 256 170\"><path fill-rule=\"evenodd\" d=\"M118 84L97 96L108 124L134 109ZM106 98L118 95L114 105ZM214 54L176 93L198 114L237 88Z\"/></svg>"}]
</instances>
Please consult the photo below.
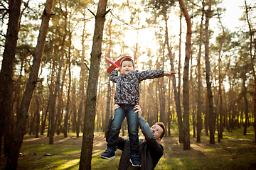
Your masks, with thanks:
<instances>
[{"instance_id":1,"label":"boy's bent leg on the left, in blue jeans and shoe","mask_svg":"<svg viewBox=\"0 0 256 170\"><path fill-rule=\"evenodd\" d=\"M117 108L114 111L114 118L110 130L110 135L107 142L107 149L101 155L103 159L114 159L114 152L117 150L118 135L122 126L122 122L125 118L124 109L122 107Z\"/></svg>"}]
</instances>

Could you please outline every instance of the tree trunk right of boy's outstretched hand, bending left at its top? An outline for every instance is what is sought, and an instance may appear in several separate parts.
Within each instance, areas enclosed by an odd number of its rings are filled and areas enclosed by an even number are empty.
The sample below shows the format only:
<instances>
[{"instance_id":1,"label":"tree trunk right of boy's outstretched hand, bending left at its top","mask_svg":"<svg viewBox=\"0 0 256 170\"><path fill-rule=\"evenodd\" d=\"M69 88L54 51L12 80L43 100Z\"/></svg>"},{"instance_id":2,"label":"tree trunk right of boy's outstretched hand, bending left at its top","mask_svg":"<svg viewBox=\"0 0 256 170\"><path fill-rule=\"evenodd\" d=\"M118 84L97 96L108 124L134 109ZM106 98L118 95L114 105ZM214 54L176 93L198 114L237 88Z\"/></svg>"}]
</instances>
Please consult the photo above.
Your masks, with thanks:
<instances>
[{"instance_id":1,"label":"tree trunk right of boy's outstretched hand, bending left at its top","mask_svg":"<svg viewBox=\"0 0 256 170\"><path fill-rule=\"evenodd\" d=\"M187 33L186 33L186 56L185 56L185 63L184 63L184 72L183 72L183 107L184 107L184 114L183 114L183 121L184 121L184 140L183 140L183 150L190 150L190 135L189 135L189 82L188 82L188 71L189 71L189 57L191 55L191 18L188 15L188 11L186 10L186 6L183 0L178 0L180 7L183 11L183 15L186 18L187 23Z\"/></svg>"}]
</instances>

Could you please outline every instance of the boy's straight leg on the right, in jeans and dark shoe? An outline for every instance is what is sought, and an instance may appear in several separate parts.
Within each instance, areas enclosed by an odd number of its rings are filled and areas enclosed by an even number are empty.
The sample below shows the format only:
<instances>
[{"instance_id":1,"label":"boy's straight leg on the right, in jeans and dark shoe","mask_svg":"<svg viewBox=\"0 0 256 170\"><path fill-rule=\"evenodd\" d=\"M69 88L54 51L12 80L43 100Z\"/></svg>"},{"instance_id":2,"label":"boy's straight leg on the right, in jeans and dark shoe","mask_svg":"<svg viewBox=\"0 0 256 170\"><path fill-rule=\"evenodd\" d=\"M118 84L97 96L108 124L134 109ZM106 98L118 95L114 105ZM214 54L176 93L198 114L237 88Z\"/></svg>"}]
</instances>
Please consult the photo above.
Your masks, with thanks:
<instances>
[{"instance_id":1,"label":"boy's straight leg on the right, in jeans and dark shoe","mask_svg":"<svg viewBox=\"0 0 256 170\"><path fill-rule=\"evenodd\" d=\"M127 111L127 124L130 142L130 162L132 166L142 166L139 159L139 122L138 113L134 113L134 106Z\"/></svg>"}]
</instances>

